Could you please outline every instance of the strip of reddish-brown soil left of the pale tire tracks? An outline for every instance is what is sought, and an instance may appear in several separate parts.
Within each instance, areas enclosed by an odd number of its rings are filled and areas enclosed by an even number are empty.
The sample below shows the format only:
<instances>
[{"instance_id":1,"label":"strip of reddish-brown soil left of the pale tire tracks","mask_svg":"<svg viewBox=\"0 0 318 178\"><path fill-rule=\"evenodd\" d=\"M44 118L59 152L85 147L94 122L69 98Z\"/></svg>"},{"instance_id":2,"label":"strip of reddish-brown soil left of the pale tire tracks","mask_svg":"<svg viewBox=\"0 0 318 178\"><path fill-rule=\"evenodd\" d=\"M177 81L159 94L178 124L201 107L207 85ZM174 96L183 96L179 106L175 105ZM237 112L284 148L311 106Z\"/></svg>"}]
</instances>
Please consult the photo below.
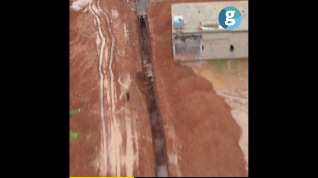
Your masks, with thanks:
<instances>
[{"instance_id":1,"label":"strip of reddish-brown soil left of the pale tire tracks","mask_svg":"<svg viewBox=\"0 0 318 178\"><path fill-rule=\"evenodd\" d=\"M70 120L70 130L81 132L70 142L70 176L99 175L92 166L100 149L101 121L98 57L91 22L91 15L70 10L70 110L81 107Z\"/></svg>"}]
</instances>

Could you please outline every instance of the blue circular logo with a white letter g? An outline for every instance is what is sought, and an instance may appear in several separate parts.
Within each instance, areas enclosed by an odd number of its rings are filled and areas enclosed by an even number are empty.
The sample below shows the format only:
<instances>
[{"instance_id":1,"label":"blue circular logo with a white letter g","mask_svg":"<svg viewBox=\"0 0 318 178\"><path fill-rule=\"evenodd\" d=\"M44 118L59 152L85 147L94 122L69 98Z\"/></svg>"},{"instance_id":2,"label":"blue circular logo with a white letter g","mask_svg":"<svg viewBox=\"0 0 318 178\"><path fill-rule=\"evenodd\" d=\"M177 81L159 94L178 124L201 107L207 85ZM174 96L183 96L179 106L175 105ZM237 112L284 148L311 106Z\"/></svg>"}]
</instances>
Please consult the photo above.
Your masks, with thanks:
<instances>
[{"instance_id":1,"label":"blue circular logo with a white letter g","mask_svg":"<svg viewBox=\"0 0 318 178\"><path fill-rule=\"evenodd\" d=\"M242 15L235 7L225 7L219 14L219 23L223 28L227 30L238 28L241 21Z\"/></svg>"}]
</instances>

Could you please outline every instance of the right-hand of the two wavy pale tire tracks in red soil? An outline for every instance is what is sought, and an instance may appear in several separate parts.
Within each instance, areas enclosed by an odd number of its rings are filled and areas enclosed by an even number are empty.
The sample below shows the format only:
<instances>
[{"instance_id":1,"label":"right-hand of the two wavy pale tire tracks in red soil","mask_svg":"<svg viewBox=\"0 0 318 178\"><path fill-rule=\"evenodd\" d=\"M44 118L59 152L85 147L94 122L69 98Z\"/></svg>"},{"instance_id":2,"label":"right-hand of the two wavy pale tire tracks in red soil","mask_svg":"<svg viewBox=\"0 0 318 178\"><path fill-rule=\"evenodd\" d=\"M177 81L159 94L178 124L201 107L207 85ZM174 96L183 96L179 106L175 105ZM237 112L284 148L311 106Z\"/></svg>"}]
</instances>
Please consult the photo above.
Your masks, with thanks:
<instances>
[{"instance_id":1,"label":"right-hand of the two wavy pale tire tracks in red soil","mask_svg":"<svg viewBox=\"0 0 318 178\"><path fill-rule=\"evenodd\" d=\"M99 6L99 0L97 1L97 7L98 9L104 14L105 18L106 18L106 22L107 22L107 26L108 26L108 32L111 35L111 47L110 47L110 59L109 59L109 73L110 73L110 90L111 90L111 116L112 119L114 121L114 125L112 126L112 136L114 135L114 150L115 150L115 156L116 158L113 160L116 162L116 175L117 177L120 177L120 172L121 172L121 161L120 161L120 144L121 144L121 132L119 130L119 124L117 122L117 118L116 118L116 112L115 112L115 88L114 88L114 73L112 70L112 63L113 63L113 51L114 51L114 44L115 44L115 38L113 33L111 32L111 28L110 28L110 23L109 23L109 18L107 16L107 14L100 8ZM112 142L112 141L111 141ZM111 144L112 146L113 144ZM115 173L115 167L112 167L112 173Z\"/></svg>"}]
</instances>

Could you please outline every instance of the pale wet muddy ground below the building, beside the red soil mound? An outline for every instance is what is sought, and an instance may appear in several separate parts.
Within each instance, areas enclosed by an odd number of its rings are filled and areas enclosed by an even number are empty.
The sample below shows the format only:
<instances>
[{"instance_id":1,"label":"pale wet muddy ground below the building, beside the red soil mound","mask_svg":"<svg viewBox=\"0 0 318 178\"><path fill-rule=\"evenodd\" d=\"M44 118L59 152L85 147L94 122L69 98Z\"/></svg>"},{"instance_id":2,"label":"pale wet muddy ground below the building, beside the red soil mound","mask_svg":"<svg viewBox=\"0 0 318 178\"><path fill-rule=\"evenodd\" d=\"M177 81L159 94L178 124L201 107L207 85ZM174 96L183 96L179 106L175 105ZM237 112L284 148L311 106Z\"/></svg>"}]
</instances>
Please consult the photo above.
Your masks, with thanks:
<instances>
[{"instance_id":1,"label":"pale wet muddy ground below the building, beside the red soil mound","mask_svg":"<svg viewBox=\"0 0 318 178\"><path fill-rule=\"evenodd\" d=\"M248 171L248 59L183 64L212 83L217 94L231 107L232 117L242 130L239 146L244 153Z\"/></svg>"}]
</instances>

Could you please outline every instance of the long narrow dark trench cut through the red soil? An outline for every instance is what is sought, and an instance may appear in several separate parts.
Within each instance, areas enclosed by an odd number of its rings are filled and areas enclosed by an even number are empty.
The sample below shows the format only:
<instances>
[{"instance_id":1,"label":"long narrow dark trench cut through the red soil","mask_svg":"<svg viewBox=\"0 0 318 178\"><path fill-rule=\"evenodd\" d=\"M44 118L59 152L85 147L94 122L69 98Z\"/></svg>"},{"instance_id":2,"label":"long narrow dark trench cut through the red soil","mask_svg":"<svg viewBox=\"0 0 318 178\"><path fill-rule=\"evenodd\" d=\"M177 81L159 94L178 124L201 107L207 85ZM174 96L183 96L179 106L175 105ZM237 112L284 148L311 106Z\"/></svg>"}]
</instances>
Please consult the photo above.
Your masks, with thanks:
<instances>
[{"instance_id":1,"label":"long narrow dark trench cut through the red soil","mask_svg":"<svg viewBox=\"0 0 318 178\"><path fill-rule=\"evenodd\" d=\"M139 17L140 40L142 47L143 73L137 73L136 78L142 81L142 93L146 96L148 115L151 123L153 146L156 159L157 177L168 177L166 156L164 151L164 139L159 116L156 91L154 88L153 66L150 57L149 36L147 30L147 16Z\"/></svg>"}]
</instances>

